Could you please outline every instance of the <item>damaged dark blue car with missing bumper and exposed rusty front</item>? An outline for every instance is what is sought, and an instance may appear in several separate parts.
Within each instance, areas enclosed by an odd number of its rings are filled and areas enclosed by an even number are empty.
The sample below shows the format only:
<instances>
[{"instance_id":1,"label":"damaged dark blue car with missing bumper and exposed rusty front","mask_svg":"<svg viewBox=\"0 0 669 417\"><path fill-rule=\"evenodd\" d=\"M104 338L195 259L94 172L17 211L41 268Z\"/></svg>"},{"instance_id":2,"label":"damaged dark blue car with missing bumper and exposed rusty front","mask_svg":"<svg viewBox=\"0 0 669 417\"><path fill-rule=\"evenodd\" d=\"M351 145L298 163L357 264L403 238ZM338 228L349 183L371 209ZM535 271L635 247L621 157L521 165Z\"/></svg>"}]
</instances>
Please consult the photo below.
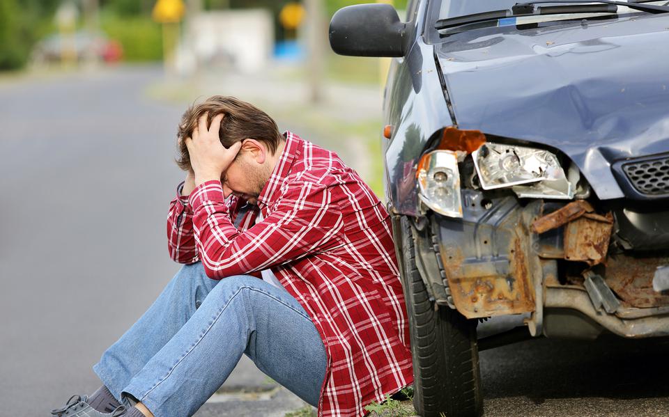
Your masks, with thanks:
<instances>
[{"instance_id":1,"label":"damaged dark blue car with missing bumper and exposed rusty front","mask_svg":"<svg viewBox=\"0 0 669 417\"><path fill-rule=\"evenodd\" d=\"M412 0L406 19L387 4L332 18L334 52L392 57L383 158L421 416L482 414L482 349L669 336L665 4ZM482 337L500 316L521 326Z\"/></svg>"}]
</instances>

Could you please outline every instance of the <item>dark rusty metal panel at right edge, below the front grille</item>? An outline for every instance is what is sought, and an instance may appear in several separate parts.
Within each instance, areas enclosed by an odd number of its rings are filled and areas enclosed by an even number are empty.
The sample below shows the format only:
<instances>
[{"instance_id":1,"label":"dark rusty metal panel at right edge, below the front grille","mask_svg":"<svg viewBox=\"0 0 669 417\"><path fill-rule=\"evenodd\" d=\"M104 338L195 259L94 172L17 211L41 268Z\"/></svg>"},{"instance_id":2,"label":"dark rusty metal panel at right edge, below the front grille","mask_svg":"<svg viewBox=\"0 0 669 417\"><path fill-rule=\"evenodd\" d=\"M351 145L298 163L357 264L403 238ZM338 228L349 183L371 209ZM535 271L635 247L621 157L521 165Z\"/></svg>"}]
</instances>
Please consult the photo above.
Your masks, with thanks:
<instances>
[{"instance_id":1,"label":"dark rusty metal panel at right edge, below the front grille","mask_svg":"<svg viewBox=\"0 0 669 417\"><path fill-rule=\"evenodd\" d=\"M661 265L669 265L669 257L636 258L623 254L612 255L606 261L604 281L630 306L669 306L669 295L653 290L653 276Z\"/></svg>"}]
</instances>

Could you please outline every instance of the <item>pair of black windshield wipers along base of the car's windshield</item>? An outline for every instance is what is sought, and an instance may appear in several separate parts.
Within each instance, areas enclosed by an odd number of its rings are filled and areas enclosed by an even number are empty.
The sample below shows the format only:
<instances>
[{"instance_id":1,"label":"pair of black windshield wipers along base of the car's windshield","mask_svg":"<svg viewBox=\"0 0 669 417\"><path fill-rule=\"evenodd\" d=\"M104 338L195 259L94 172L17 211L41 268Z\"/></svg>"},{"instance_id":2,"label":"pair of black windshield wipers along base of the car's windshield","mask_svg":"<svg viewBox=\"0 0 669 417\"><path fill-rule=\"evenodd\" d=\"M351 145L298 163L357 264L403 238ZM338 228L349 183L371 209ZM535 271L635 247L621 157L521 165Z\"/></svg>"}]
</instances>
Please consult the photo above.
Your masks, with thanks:
<instances>
[{"instance_id":1,"label":"pair of black windshield wipers along base of the car's windshield","mask_svg":"<svg viewBox=\"0 0 669 417\"><path fill-rule=\"evenodd\" d=\"M652 4L627 3L625 1L599 0L592 4L592 0L535 0L527 3L516 3L512 10L491 10L489 12L474 13L472 15L463 15L440 19L434 25L435 29L449 29L465 24L489 22L492 20L505 19L507 17L528 17L538 15L562 15L571 13L616 13L617 6L627 6L631 9L642 10L648 13L668 13L669 7L654 6ZM570 6L543 6L536 7L537 3L571 3ZM574 4L576 3L576 4ZM588 3L588 4L578 4Z\"/></svg>"}]
</instances>

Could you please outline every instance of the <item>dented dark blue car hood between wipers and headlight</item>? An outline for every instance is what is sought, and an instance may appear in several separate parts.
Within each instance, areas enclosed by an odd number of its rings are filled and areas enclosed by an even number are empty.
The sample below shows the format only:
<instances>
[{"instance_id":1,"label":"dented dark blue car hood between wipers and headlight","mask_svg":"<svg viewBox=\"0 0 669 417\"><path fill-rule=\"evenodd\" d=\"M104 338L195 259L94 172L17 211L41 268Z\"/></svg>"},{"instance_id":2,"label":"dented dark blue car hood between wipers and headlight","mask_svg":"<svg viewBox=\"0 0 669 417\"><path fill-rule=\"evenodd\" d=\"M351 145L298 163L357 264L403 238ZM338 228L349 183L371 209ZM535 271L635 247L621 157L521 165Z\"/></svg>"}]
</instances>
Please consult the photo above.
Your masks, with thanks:
<instances>
[{"instance_id":1,"label":"dented dark blue car hood between wipers and headlight","mask_svg":"<svg viewBox=\"0 0 669 417\"><path fill-rule=\"evenodd\" d=\"M610 164L669 150L669 17L515 26L435 45L456 122L564 152L599 198Z\"/></svg>"}]
</instances>

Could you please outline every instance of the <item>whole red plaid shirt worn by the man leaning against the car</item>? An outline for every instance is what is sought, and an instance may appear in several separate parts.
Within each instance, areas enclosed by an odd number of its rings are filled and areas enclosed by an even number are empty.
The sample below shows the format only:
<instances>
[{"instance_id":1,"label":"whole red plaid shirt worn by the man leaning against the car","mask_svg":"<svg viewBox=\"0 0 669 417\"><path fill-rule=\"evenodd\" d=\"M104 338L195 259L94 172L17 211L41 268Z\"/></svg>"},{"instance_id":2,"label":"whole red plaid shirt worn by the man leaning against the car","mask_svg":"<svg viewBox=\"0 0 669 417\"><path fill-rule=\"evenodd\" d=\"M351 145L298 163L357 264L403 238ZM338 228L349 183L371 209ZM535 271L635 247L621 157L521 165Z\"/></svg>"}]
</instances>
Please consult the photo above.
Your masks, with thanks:
<instances>
[{"instance_id":1,"label":"whole red plaid shirt worn by the man leaning against the car","mask_svg":"<svg viewBox=\"0 0 669 417\"><path fill-rule=\"evenodd\" d=\"M172 201L167 234L177 262L214 279L271 268L298 299L328 352L318 416L362 416L413 381L390 218L334 152L286 132L257 206L205 182Z\"/></svg>"}]
</instances>

